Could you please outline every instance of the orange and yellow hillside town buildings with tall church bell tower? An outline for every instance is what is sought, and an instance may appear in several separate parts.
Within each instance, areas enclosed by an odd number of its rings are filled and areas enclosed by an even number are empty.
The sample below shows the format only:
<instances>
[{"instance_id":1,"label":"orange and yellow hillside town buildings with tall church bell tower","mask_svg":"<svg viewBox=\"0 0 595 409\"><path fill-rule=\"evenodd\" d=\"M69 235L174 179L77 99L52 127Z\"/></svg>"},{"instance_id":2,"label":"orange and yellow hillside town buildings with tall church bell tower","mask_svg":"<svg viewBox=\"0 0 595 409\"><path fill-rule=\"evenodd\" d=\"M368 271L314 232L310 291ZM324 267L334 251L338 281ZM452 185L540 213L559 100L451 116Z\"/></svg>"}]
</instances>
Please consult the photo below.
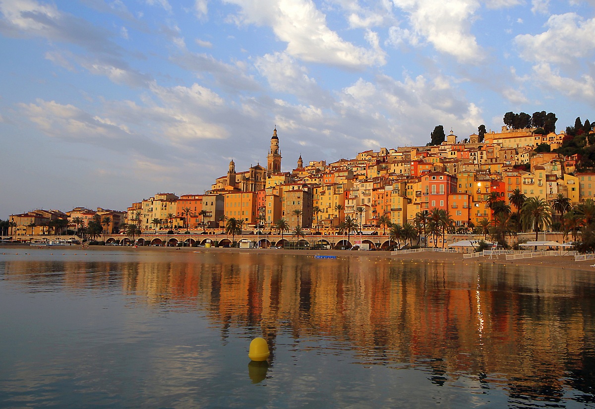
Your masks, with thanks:
<instances>
[{"instance_id":1,"label":"orange and yellow hillside town buildings with tall church bell tower","mask_svg":"<svg viewBox=\"0 0 595 409\"><path fill-rule=\"evenodd\" d=\"M547 203L562 195L572 206L595 198L595 173L580 169L580 155L552 152L572 143L575 136L569 138L568 131L576 134L578 125L588 146L592 132L588 120L587 128L578 121L575 128L556 133L552 124L531 127L530 119L522 122L522 117L519 122L518 114L515 126L515 115L509 114L499 132L486 131L481 125L478 134L462 140L452 130L434 140L436 127L427 146L367 150L332 163L306 164L300 156L290 172L281 171L282 139L275 127L267 166L237 171L231 161L227 174L205 194L158 193L132 203L126 212L82 207L66 213L34 210L11 215L10 234L76 231L94 218L109 233L124 225L136 225L139 234L223 229L232 218L244 229L270 231L283 219L292 228L299 225L320 234L333 234L350 218L360 231L384 232L391 224L413 225L416 215L433 209L447 212L453 230L471 232L493 219L494 198L518 210L511 203L517 190ZM518 128L519 123L529 127Z\"/></svg>"}]
</instances>

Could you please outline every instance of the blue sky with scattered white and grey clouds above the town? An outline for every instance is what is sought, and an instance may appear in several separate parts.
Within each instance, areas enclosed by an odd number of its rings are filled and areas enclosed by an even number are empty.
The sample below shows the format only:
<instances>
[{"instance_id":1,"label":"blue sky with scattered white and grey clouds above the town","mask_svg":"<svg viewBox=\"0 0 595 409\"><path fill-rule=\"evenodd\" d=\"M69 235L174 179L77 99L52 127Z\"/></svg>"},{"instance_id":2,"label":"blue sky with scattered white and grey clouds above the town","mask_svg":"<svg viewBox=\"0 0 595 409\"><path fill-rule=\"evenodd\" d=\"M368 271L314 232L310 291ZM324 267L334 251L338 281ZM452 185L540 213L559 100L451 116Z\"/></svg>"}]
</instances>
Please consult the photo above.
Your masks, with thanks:
<instances>
[{"instance_id":1,"label":"blue sky with scattered white and grey clouds above the town","mask_svg":"<svg viewBox=\"0 0 595 409\"><path fill-rule=\"evenodd\" d=\"M126 210L506 112L595 121L595 0L0 0L0 218Z\"/></svg>"}]
</instances>

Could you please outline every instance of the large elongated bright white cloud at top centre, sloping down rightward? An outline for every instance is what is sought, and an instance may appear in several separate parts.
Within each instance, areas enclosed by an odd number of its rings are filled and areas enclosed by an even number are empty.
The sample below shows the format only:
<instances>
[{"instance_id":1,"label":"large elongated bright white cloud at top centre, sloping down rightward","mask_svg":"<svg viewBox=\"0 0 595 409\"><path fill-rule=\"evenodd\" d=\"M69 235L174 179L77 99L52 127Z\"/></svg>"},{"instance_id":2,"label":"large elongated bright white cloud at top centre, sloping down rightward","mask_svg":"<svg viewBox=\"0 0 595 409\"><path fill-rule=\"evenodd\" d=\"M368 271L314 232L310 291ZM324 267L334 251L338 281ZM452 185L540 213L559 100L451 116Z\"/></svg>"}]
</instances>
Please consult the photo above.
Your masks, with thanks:
<instances>
[{"instance_id":1,"label":"large elongated bright white cloud at top centre, sloping down rightward","mask_svg":"<svg viewBox=\"0 0 595 409\"><path fill-rule=\"evenodd\" d=\"M286 52L295 58L349 68L386 63L386 54L378 45L362 48L330 30L325 15L311 0L227 1L242 9L239 23L272 27L278 39L287 43Z\"/></svg>"}]
</instances>

